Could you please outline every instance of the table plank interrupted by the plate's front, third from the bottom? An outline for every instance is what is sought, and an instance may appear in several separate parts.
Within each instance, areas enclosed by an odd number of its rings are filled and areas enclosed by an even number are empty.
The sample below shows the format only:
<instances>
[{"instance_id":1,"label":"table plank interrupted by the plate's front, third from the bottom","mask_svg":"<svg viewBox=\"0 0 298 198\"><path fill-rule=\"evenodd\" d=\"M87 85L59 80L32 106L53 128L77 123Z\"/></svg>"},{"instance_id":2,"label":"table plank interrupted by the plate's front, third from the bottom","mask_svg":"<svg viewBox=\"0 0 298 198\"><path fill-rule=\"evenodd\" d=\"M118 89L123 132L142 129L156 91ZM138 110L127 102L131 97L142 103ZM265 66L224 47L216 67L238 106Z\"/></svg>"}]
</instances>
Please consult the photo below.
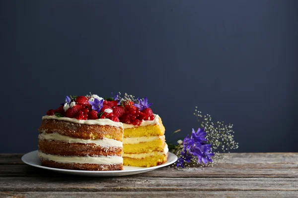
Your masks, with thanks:
<instances>
[{"instance_id":1,"label":"table plank interrupted by the plate's front, third from the bottom","mask_svg":"<svg viewBox=\"0 0 298 198\"><path fill-rule=\"evenodd\" d=\"M65 175L23 164L0 165L0 177L34 176L64 177ZM69 176L66 175L66 177ZM298 178L298 164L218 164L214 167L186 168L183 170L164 167L131 177Z\"/></svg>"}]
</instances>

